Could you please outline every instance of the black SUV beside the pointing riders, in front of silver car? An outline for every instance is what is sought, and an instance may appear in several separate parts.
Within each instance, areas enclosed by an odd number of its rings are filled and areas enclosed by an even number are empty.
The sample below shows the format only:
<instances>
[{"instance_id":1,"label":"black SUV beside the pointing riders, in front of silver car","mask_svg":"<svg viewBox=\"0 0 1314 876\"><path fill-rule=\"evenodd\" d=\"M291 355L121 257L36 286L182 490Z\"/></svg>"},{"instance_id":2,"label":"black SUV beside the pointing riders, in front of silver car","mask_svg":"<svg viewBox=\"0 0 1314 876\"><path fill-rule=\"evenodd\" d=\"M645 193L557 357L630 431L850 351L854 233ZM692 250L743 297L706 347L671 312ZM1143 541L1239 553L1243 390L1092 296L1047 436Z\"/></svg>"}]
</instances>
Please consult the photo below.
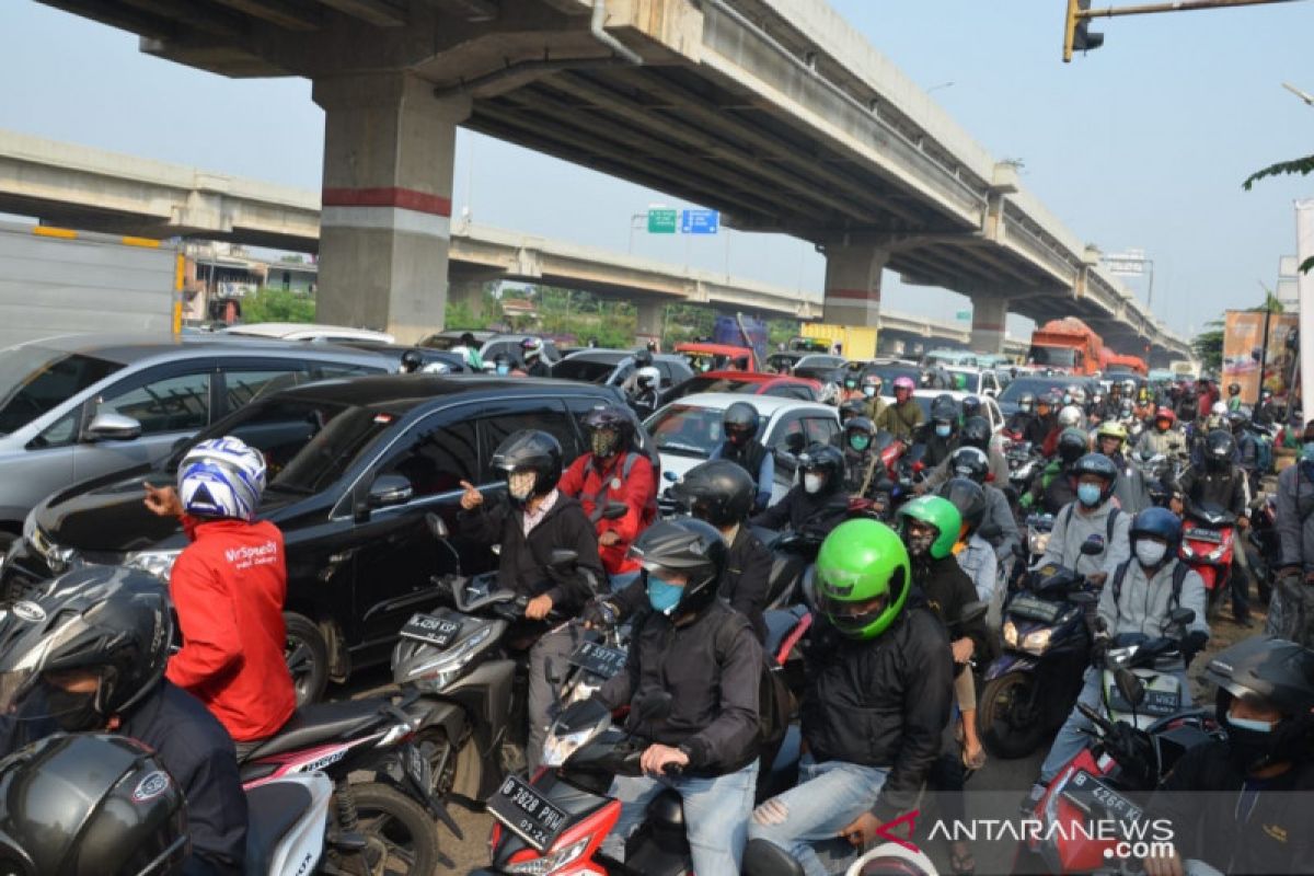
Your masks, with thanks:
<instances>
[{"instance_id":1,"label":"black SUV beside the pointing riders, in front of silver car","mask_svg":"<svg viewBox=\"0 0 1314 876\"><path fill-rule=\"evenodd\" d=\"M455 532L461 481L505 490L489 462L518 429L551 432L569 464L587 447L582 418L608 402L619 394L606 386L474 376L361 377L277 393L180 443L154 469L80 483L38 504L0 583L16 595L80 562L167 580L187 538L177 521L145 508L142 481L172 483L194 441L234 435L265 454L260 516L286 540L289 649L304 655L293 661L298 697L317 699L327 678L388 661L406 619L435 605L430 578L452 571L456 558L430 535L426 512ZM656 468L637 420L635 431ZM486 546L451 544L465 574L493 567Z\"/></svg>"}]
</instances>

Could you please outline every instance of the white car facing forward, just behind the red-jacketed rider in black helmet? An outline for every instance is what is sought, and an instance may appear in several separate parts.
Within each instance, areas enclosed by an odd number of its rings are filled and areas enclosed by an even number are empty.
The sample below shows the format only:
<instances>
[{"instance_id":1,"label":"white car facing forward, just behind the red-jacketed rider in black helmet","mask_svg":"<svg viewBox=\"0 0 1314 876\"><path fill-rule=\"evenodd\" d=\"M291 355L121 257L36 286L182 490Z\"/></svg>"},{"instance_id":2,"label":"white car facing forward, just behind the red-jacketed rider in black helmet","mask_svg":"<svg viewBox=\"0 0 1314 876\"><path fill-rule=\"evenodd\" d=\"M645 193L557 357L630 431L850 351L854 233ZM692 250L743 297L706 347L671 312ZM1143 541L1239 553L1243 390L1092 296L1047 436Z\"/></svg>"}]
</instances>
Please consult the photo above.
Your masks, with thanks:
<instances>
[{"instance_id":1,"label":"white car facing forward, just behind the red-jacketed rider in black helmet","mask_svg":"<svg viewBox=\"0 0 1314 876\"><path fill-rule=\"evenodd\" d=\"M775 454L775 485L771 502L794 483L794 456L808 444L838 445L840 412L829 405L774 395L744 393L698 393L657 410L644 422L661 454L662 475L683 477L724 441L721 419L735 402L748 402L758 414L757 440ZM665 485L660 489L665 489Z\"/></svg>"}]
</instances>

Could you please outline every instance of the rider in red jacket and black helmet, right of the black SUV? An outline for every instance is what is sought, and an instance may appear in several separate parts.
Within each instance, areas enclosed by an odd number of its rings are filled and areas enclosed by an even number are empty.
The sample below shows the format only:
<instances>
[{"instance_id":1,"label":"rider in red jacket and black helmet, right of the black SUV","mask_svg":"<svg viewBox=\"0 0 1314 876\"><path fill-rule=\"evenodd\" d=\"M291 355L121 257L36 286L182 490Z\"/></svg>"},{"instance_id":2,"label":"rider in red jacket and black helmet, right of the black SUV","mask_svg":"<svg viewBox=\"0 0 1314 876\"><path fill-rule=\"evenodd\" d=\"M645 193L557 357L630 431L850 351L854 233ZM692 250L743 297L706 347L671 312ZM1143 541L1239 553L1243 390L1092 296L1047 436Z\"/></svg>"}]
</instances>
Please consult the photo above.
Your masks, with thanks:
<instances>
[{"instance_id":1,"label":"rider in red jacket and black helmet, right of the black SUV","mask_svg":"<svg viewBox=\"0 0 1314 876\"><path fill-rule=\"evenodd\" d=\"M657 479L648 456L633 445L633 426L619 407L603 405L583 419L590 452L570 464L557 490L578 499L598 533L598 557L612 592L639 577L629 544L656 516ZM620 517L604 516L608 504L625 506Z\"/></svg>"}]
</instances>

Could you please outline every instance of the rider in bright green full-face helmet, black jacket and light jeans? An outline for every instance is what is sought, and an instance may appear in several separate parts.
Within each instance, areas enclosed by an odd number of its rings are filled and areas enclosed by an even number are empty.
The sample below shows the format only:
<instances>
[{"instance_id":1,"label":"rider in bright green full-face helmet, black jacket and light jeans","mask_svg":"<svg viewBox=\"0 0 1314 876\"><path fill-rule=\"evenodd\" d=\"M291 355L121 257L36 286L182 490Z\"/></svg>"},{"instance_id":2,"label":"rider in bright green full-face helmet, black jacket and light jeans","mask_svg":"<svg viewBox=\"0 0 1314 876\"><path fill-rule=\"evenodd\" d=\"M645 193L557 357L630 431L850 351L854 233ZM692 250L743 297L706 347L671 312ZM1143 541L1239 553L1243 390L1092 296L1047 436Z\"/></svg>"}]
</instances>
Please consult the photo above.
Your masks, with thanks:
<instances>
[{"instance_id":1,"label":"rider in bright green full-face helmet, black jacket and light jeans","mask_svg":"<svg viewBox=\"0 0 1314 876\"><path fill-rule=\"evenodd\" d=\"M957 533L955 533L957 535ZM862 848L916 805L949 722L953 658L943 625L912 590L908 550L875 520L849 520L821 542L804 649L799 784L753 812L749 837L828 869L812 843Z\"/></svg>"}]
</instances>

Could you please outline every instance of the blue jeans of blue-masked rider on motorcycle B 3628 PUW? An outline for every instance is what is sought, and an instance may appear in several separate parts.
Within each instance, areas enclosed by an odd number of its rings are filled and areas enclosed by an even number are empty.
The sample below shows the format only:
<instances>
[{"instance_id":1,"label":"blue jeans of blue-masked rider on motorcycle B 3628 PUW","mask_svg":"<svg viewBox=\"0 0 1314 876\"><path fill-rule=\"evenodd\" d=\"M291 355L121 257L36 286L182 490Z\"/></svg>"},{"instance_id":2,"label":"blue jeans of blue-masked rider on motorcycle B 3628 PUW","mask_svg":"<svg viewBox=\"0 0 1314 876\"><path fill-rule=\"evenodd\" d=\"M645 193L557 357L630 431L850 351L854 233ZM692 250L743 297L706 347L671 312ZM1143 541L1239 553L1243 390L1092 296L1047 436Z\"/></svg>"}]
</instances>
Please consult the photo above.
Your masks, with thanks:
<instances>
[{"instance_id":1,"label":"blue jeans of blue-masked rider on motorcycle B 3628 PUW","mask_svg":"<svg viewBox=\"0 0 1314 876\"><path fill-rule=\"evenodd\" d=\"M685 802L685 823L695 873L737 873L748 842L748 820L753 814L757 788L757 760L738 772L715 779L695 776L616 776L611 796L620 801L616 826L602 842L603 854L623 862L625 841L633 833L664 788L671 788Z\"/></svg>"}]
</instances>

